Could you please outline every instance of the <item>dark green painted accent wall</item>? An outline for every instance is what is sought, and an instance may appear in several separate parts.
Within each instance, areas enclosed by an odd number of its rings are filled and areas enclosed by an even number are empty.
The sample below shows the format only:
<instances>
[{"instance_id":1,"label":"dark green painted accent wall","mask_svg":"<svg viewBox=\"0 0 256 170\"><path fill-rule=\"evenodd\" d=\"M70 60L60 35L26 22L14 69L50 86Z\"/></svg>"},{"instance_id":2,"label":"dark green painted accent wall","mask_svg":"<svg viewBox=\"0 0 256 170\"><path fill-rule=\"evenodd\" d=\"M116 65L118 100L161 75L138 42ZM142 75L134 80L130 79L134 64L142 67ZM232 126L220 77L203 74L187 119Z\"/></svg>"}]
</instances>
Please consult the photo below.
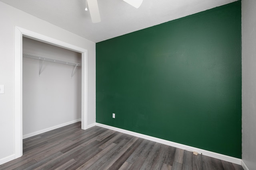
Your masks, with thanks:
<instances>
[{"instance_id":1,"label":"dark green painted accent wall","mask_svg":"<svg viewBox=\"0 0 256 170\"><path fill-rule=\"evenodd\" d=\"M241 84L241 1L96 43L97 123L241 158Z\"/></svg>"}]
</instances>

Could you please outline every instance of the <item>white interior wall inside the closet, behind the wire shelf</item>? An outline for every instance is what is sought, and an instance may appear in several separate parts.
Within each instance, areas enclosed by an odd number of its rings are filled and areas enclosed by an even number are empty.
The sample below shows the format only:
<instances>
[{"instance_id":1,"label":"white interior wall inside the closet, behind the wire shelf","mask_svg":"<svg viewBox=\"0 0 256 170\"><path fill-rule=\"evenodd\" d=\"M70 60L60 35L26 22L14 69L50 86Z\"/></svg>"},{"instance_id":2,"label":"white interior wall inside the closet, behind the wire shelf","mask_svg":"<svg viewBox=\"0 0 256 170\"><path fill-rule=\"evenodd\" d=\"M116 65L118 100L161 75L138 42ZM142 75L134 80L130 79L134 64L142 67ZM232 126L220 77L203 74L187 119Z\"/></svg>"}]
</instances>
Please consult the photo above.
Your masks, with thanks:
<instances>
[{"instance_id":1,"label":"white interior wall inside the closet, behind the wire shelf","mask_svg":"<svg viewBox=\"0 0 256 170\"><path fill-rule=\"evenodd\" d=\"M81 53L23 37L23 53L81 63ZM81 119L82 69L23 58L23 136L31 137L51 127ZM44 130L46 129L46 130ZM39 131L39 132L38 132ZM48 131L48 130L47 130Z\"/></svg>"}]
</instances>

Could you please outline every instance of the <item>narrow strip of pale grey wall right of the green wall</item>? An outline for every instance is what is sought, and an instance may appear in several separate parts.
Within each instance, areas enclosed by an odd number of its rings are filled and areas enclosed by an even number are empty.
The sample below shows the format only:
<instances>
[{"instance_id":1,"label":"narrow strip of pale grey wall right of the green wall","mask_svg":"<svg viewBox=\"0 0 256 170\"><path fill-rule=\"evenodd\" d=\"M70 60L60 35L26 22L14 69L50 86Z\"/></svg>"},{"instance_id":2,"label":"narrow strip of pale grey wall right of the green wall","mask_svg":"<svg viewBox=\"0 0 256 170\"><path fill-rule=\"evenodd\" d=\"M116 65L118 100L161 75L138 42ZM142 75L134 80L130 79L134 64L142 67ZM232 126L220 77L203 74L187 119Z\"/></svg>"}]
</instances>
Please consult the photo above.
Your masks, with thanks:
<instances>
[{"instance_id":1,"label":"narrow strip of pale grey wall right of the green wall","mask_svg":"<svg viewBox=\"0 0 256 170\"><path fill-rule=\"evenodd\" d=\"M256 0L242 0L242 161L256 170Z\"/></svg>"}]
</instances>

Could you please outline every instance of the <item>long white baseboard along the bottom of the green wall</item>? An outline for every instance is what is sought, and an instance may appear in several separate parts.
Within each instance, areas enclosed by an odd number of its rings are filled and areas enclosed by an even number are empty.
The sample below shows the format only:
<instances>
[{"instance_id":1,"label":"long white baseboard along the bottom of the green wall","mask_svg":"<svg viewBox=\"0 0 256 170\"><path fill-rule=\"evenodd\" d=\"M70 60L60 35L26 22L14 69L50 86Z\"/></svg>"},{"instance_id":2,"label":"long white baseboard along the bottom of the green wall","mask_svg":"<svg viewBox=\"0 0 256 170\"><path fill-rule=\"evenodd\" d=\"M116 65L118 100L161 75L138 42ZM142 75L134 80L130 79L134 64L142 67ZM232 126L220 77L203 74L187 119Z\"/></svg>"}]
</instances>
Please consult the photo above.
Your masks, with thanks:
<instances>
[{"instance_id":1,"label":"long white baseboard along the bottom of the green wall","mask_svg":"<svg viewBox=\"0 0 256 170\"><path fill-rule=\"evenodd\" d=\"M169 145L169 146L184 149L184 150L187 149L187 150L196 151L199 154L202 153L203 155L210 156L212 158L217 158L217 159L221 159L221 160L225 160L225 161L228 161L228 162L232 162L232 163L241 165L241 159L234 158L232 156L227 156L227 155L224 155L224 154L219 154L219 153L211 152L211 151L208 151L208 150L203 150L203 149L199 149L199 148L195 148L195 147L190 147L188 145L183 145L183 144L180 144L180 143L175 143L175 142L167 141L167 140L164 140L164 139L159 139L159 138L156 138L156 137L143 135L143 134L140 134L140 133L120 129L120 128L117 128L117 127L104 125L104 124L101 124L101 123L95 123L95 125L100 126L100 127L104 127L104 128L107 128L107 129L111 129L111 130L114 130L114 131L118 131L118 132L121 132L121 133L126 133L128 135L140 137L140 138L143 138L143 139L148 139L150 141L154 141L154 142L157 142L157 143L162 143L164 145Z\"/></svg>"}]
</instances>

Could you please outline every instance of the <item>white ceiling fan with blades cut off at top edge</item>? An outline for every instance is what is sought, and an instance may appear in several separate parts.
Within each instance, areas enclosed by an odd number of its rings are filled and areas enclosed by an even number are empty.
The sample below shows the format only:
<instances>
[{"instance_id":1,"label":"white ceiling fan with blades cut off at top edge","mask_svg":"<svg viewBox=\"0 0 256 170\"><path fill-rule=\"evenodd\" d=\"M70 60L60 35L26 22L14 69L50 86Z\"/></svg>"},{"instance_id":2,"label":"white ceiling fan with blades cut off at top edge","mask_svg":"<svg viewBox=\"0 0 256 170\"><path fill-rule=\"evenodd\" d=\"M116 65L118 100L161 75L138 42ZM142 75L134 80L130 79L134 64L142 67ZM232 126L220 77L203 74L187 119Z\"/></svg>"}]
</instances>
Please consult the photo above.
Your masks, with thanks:
<instances>
[{"instance_id":1,"label":"white ceiling fan with blades cut off at top edge","mask_svg":"<svg viewBox=\"0 0 256 170\"><path fill-rule=\"evenodd\" d=\"M131 6L134 6L135 8L139 8L143 0L123 0L123 1L127 2ZM87 3L90 9L92 22L93 23L100 22L100 11L99 11L97 0L86 0L86 8L85 8L86 11L87 11Z\"/></svg>"}]
</instances>

